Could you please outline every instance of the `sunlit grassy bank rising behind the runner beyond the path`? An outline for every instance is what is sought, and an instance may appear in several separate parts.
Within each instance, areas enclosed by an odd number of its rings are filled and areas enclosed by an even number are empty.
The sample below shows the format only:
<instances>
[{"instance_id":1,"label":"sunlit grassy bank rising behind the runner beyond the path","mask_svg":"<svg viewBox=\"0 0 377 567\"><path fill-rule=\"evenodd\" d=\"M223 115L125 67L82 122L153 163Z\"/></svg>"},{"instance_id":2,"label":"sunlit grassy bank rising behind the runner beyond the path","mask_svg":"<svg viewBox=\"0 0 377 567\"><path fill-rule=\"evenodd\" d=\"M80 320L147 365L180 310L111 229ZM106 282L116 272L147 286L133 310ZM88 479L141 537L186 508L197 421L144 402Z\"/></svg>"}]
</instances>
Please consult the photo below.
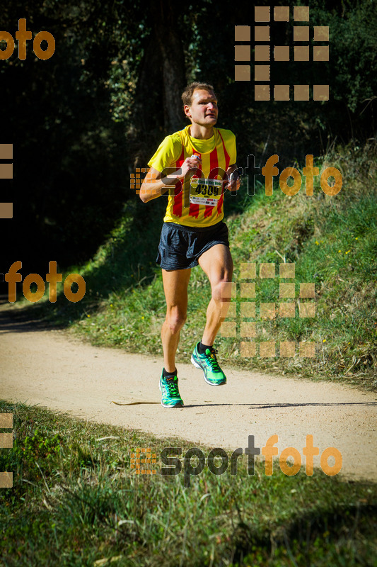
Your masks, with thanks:
<instances>
[{"instance_id":1,"label":"sunlit grassy bank rising behind the runner beyond the path","mask_svg":"<svg viewBox=\"0 0 377 567\"><path fill-rule=\"evenodd\" d=\"M343 187L337 196L326 196L315 177L312 197L305 194L303 178L296 196L284 195L276 184L271 197L262 186L255 196L248 196L243 187L237 198L226 200L238 289L243 262L255 262L257 274L261 263L274 263L277 276L279 264L293 262L295 279L286 281L295 283L296 302L299 284L315 283L315 300L300 300L315 301L315 318L300 318L296 306L293 319L262 320L259 303L279 303L279 277L257 278L256 342L259 346L261 341L274 341L277 356L241 357L239 329L236 338L218 337L216 347L226 366L376 389L376 147L338 148L315 160L315 165L340 169ZM129 203L95 258L69 270L79 271L86 280L83 300L74 304L60 296L56 304L45 301L43 316L93 344L161 356L166 307L161 271L154 260L165 206L164 198L147 205ZM178 362L187 361L202 336L209 298L207 276L199 267L192 269ZM242 301L237 301L238 322ZM293 358L278 356L282 341L296 343ZM315 357L299 356L298 342L305 341L315 342Z\"/></svg>"}]
</instances>

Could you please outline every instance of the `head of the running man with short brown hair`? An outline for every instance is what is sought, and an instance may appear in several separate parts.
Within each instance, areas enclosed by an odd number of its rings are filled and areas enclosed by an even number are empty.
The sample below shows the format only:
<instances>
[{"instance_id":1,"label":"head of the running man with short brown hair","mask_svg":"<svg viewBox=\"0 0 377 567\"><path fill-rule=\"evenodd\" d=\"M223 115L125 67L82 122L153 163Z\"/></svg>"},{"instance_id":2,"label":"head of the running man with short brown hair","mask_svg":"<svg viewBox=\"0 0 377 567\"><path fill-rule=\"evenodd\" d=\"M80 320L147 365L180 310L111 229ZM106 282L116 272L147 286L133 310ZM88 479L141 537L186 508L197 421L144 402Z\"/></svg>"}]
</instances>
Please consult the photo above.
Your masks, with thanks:
<instances>
[{"instance_id":1,"label":"head of the running man with short brown hair","mask_svg":"<svg viewBox=\"0 0 377 567\"><path fill-rule=\"evenodd\" d=\"M214 87L207 83L191 83L182 93L183 111L192 124L211 128L217 122L219 109Z\"/></svg>"}]
</instances>

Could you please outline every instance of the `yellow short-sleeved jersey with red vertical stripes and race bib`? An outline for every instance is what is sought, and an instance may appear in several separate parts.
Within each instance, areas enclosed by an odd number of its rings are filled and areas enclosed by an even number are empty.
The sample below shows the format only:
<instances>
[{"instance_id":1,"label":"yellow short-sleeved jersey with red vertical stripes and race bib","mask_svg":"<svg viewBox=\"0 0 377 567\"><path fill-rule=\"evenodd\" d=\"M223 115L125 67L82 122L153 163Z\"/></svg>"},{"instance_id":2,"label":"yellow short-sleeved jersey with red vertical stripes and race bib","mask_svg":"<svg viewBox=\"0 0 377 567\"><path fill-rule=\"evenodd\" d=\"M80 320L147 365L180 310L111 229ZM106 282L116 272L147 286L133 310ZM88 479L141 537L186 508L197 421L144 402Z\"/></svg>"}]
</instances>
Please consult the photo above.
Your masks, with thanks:
<instances>
[{"instance_id":1,"label":"yellow short-sleeved jersey with red vertical stripes and race bib","mask_svg":"<svg viewBox=\"0 0 377 567\"><path fill-rule=\"evenodd\" d=\"M236 136L231 130L214 128L212 137L199 140L190 136L190 126L166 136L148 165L165 176L180 169L187 157L195 154L202 159L194 176L187 175L165 193L168 206L163 220L208 227L224 218L223 179L228 167L236 163Z\"/></svg>"}]
</instances>

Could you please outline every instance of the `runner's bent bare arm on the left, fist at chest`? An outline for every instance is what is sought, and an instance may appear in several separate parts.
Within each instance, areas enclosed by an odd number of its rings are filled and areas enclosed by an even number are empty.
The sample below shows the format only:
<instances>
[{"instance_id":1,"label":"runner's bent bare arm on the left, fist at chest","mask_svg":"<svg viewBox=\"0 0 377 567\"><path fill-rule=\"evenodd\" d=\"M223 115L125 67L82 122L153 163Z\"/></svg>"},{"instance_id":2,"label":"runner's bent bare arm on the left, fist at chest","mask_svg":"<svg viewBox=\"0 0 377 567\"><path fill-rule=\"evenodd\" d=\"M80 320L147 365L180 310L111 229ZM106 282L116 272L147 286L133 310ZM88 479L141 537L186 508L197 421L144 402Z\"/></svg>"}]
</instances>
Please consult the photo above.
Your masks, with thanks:
<instances>
[{"instance_id":1,"label":"runner's bent bare arm on the left, fist at chest","mask_svg":"<svg viewBox=\"0 0 377 567\"><path fill-rule=\"evenodd\" d=\"M168 191L169 187L174 186L178 180L183 179L190 169L194 169L196 171L198 162L201 161L201 159L198 159L198 157L195 156L187 157L182 163L182 167L180 169L163 178L161 176L161 172L158 172L157 169L151 167L144 177L144 181L140 187L139 195L141 201L143 201L143 203L148 203L148 201L160 197L163 193Z\"/></svg>"}]
</instances>

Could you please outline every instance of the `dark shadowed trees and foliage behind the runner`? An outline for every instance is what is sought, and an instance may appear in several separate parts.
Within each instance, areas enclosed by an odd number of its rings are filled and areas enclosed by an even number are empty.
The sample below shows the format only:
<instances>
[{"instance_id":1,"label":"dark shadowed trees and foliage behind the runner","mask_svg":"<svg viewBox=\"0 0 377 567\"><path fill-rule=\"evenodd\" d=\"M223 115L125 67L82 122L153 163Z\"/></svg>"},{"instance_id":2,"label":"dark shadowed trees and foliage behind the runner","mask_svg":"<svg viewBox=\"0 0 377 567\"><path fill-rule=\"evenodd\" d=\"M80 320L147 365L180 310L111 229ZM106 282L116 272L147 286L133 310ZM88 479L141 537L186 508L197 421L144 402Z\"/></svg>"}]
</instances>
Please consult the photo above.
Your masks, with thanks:
<instances>
[{"instance_id":1,"label":"dark shadowed trees and foliage behind the runner","mask_svg":"<svg viewBox=\"0 0 377 567\"><path fill-rule=\"evenodd\" d=\"M311 30L330 26L330 61L271 64L272 83L329 83L327 103L255 102L253 82L234 82L234 26L253 30L252 4L224 11L209 0L179 10L170 0L16 1L1 10L0 28L14 37L19 18L33 37L52 33L56 51L38 60L29 41L20 61L16 42L0 61L0 142L14 146L14 179L1 181L3 201L14 203L14 218L1 221L3 237L12 235L1 271L16 259L25 273L43 274L52 259L67 266L91 257L122 204L137 198L129 173L185 125L178 96L185 81L216 85L219 126L237 134L241 167L249 154L262 166L277 153L285 167L325 152L335 138L375 136L371 0L311 2ZM294 45L292 23L270 23L272 47ZM251 58L253 74L253 49Z\"/></svg>"}]
</instances>

